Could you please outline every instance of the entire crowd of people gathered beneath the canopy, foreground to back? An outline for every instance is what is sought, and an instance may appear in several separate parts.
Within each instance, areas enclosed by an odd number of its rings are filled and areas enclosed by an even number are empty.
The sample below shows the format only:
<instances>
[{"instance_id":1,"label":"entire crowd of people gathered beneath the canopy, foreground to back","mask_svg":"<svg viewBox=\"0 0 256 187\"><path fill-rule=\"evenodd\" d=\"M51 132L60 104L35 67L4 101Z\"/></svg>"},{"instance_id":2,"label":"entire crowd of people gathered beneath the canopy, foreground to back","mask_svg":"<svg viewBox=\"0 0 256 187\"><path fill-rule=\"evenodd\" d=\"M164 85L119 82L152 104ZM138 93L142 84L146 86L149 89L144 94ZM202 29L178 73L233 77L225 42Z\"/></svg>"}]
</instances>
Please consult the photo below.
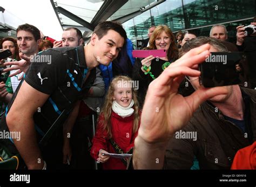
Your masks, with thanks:
<instances>
[{"instance_id":1,"label":"entire crowd of people gathered beneath the canopy, foreground to back","mask_svg":"<svg viewBox=\"0 0 256 187\"><path fill-rule=\"evenodd\" d=\"M11 51L1 59L0 131L21 134L0 146L21 156L18 169L256 169L255 159L234 159L255 153L256 34L239 25L233 44L224 25L209 37L158 25L148 36L143 50L165 57L133 58L123 26L111 21L86 44L75 27L57 41L30 24L0 40ZM198 65L211 52L238 51L247 57L247 68L234 67L243 82L200 84Z\"/></svg>"}]
</instances>

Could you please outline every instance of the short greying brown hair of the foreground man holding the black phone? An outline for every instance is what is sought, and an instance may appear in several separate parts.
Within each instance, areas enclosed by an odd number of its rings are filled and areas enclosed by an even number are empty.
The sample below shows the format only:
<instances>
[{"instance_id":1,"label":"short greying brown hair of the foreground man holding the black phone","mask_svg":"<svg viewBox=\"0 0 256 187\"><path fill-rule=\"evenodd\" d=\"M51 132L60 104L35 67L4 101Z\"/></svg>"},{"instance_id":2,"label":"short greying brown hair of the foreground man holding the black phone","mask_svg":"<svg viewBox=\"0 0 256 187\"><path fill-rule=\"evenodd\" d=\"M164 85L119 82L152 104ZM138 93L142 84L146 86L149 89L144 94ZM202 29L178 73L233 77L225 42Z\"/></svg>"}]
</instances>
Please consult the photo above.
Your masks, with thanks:
<instances>
[{"instance_id":1,"label":"short greying brown hair of the foreground man holding the black phone","mask_svg":"<svg viewBox=\"0 0 256 187\"><path fill-rule=\"evenodd\" d=\"M228 52L227 47L223 45L218 39L216 38L210 38L205 36L200 36L198 38L194 38L192 40L188 40L183 47L181 47L179 52L179 57L182 57L185 53L188 51L199 47L204 44L210 44L212 45L218 52Z\"/></svg>"}]
</instances>

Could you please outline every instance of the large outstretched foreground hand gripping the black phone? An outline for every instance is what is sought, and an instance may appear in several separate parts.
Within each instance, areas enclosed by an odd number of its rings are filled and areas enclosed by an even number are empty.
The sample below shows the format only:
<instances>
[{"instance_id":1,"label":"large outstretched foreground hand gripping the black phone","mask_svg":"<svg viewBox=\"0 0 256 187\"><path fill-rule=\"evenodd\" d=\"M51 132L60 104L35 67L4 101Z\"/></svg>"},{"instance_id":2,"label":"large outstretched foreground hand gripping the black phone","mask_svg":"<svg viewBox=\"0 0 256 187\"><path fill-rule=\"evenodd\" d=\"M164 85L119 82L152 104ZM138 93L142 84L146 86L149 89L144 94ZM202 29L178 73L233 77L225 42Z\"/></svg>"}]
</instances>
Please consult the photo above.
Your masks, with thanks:
<instances>
[{"instance_id":1,"label":"large outstretched foreground hand gripping the black phone","mask_svg":"<svg viewBox=\"0 0 256 187\"><path fill-rule=\"evenodd\" d=\"M225 94L222 87L199 88L192 95L178 94L184 75L198 77L197 64L210 55L205 44L187 52L151 82L142 112L138 137L147 143L168 142L175 131L183 128L201 103L215 95ZM137 138L138 138L137 137Z\"/></svg>"}]
</instances>

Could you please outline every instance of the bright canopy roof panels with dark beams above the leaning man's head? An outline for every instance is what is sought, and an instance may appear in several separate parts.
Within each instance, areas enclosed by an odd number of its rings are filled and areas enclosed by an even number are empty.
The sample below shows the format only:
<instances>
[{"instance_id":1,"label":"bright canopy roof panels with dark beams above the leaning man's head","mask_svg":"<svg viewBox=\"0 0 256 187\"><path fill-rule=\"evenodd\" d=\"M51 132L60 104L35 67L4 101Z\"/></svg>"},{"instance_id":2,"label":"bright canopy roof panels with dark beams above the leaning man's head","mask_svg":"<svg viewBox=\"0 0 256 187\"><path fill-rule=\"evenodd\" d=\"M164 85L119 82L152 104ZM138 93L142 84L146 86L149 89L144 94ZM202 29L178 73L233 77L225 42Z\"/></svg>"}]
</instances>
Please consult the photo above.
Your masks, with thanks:
<instances>
[{"instance_id":1,"label":"bright canopy roof panels with dark beams above the leaning man's head","mask_svg":"<svg viewBox=\"0 0 256 187\"><path fill-rule=\"evenodd\" d=\"M101 20L129 19L165 0L50 0L63 29L77 27L88 36ZM137 12L137 15L132 13ZM132 16L131 16L132 15ZM119 20L122 23L122 20ZM86 32L85 32L86 31Z\"/></svg>"}]
</instances>

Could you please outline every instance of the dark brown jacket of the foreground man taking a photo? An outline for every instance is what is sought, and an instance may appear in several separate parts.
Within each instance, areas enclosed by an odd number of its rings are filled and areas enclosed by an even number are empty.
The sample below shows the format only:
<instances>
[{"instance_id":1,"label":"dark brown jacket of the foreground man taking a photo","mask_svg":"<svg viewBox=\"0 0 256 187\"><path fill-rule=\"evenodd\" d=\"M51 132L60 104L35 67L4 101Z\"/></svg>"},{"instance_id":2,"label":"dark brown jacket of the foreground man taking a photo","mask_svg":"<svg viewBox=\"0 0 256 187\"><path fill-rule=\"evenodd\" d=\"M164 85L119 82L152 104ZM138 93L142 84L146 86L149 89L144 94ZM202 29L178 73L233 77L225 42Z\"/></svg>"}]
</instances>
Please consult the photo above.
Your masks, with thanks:
<instances>
[{"instance_id":1,"label":"dark brown jacket of the foreground man taking a photo","mask_svg":"<svg viewBox=\"0 0 256 187\"><path fill-rule=\"evenodd\" d=\"M200 169L230 169L235 153L256 140L256 90L241 88L245 102L247 134L211 103L204 102L193 114L182 131L197 133L197 140L176 138L170 140L165 154L165 169L190 169L194 156ZM178 137L178 136L177 136Z\"/></svg>"}]
</instances>

